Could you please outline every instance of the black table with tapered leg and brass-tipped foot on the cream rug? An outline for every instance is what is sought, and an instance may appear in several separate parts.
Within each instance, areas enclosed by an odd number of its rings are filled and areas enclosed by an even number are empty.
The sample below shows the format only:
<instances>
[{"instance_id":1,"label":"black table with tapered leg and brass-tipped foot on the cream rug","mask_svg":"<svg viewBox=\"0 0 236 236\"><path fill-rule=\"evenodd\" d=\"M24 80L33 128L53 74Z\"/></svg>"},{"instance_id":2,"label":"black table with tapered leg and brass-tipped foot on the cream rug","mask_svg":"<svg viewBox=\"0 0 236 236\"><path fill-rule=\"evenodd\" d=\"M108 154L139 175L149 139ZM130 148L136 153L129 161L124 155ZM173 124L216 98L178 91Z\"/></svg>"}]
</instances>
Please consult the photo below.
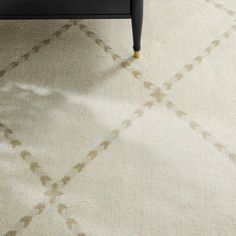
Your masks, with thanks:
<instances>
[{"instance_id":1,"label":"black table with tapered leg and brass-tipped foot on the cream rug","mask_svg":"<svg viewBox=\"0 0 236 236\"><path fill-rule=\"evenodd\" d=\"M0 19L119 18L132 19L134 56L139 57L143 0L0 0Z\"/></svg>"}]
</instances>

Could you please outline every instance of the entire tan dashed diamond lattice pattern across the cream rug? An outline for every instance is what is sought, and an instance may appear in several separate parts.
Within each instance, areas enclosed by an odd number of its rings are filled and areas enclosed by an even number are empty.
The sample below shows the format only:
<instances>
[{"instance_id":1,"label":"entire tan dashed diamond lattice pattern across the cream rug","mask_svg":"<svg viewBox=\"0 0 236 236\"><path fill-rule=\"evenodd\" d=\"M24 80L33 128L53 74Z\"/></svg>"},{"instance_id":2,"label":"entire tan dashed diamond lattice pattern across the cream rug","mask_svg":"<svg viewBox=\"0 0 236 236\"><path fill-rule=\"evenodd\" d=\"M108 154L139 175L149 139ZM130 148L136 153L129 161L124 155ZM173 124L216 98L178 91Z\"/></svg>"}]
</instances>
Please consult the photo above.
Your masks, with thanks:
<instances>
[{"instance_id":1,"label":"entire tan dashed diamond lattice pattern across the cream rug","mask_svg":"<svg viewBox=\"0 0 236 236\"><path fill-rule=\"evenodd\" d=\"M210 0L205 0L205 1L213 2ZM217 4L215 6L221 10L226 11L231 16L235 15L235 12L227 10L221 4ZM16 68L24 61L28 60L32 55L34 55L35 53L38 53L42 47L50 44L50 42L52 40L59 37L63 32L66 32L72 25L76 25L76 24L77 24L77 21L71 21L71 24L66 24L66 25L62 26L61 30L56 31L52 35L51 38L43 40L38 45L34 46L28 53L22 55L17 61L10 63L5 69L0 70L0 80L7 72ZM114 53L112 51L112 48L107 46L103 40L97 38L96 34L94 32L90 31L83 24L80 24L80 29L84 33L86 33L86 35L88 37L93 38L95 40L96 44L103 47L105 52L110 53L112 55L112 59L114 61L117 61L123 68L129 70L131 72L131 74L134 76L134 78L143 80L144 87L148 90L152 90L152 93L150 94L152 99L147 101L146 103L144 103L139 109L135 110L128 119L126 119L122 122L120 127L118 127L117 129L114 129L110 133L110 136L108 136L97 147L92 149L84 157L84 159L81 162L77 163L73 167L73 169L70 170L58 183L54 183L54 184L49 184L49 183L51 183L50 177L46 176L46 174L41 170L41 167L38 165L37 161L34 160L34 157L32 157L30 152L28 152L27 150L18 149L19 146L21 146L21 142L14 138L13 132L10 129L6 128L5 125L1 124L0 130L3 131L6 139L9 141L9 144L12 146L12 148L16 149L17 153L20 153L21 157L30 164L30 170L33 173L36 173L40 177L40 180L41 180L41 183L43 184L43 186L51 187L51 190L54 190L54 191L56 189L55 192L59 191L60 188L67 185L72 177L74 177L76 174L80 173L90 161L94 160L95 158L97 158L97 156L100 153L105 151L111 145L111 143L119 137L120 133L125 131L128 127L130 127L136 119L142 117L144 112L146 112L146 110L150 110L155 105L155 103L163 102L164 98L166 97L166 94L162 92L163 90L160 89L159 87L157 87L152 82L146 81L144 76L142 75L142 73L140 73L139 71L136 71L136 70L130 70L129 67L131 65L131 62L130 61L122 61L122 58L118 54ZM217 39L217 40L212 41L211 45L205 49L205 51L202 55L197 56L194 59L194 61L192 63L186 65L181 72L177 73L168 82L165 82L163 84L163 87L165 88L165 90L170 90L172 85L175 82L178 82L181 79L183 79L184 74L186 72L192 71L197 64L200 64L206 56L211 54L211 52L213 51L214 48L216 48L220 45L222 39L229 38L230 35L232 34L232 32L234 32L234 31L236 31L235 24L232 25L230 27L230 29L228 29L227 31L225 31L221 35L220 40ZM207 131L205 131L204 129L202 129L201 126L197 122L191 121L188 118L186 118L187 113L177 109L175 104L171 101L167 101L167 102L165 102L165 104L168 109L172 110L176 114L176 116L178 116L179 118L184 119L186 122L188 122L190 128L192 128L195 131L198 131L204 139L210 141L219 152L226 154L232 161L236 160L236 155L233 153L230 153L227 150L225 145L215 141L215 139L213 139L212 135L210 133L208 133ZM44 176L44 178L42 178L43 176ZM48 191L47 193L49 196L50 191ZM47 195L47 194L45 194L45 195ZM60 194L58 194L58 196L60 196ZM57 195L56 195L56 197L57 197ZM53 196L50 201L54 202L56 197ZM15 236L17 234L17 232L19 232L23 228L26 228L30 224L33 217L41 214L43 212L43 210L45 209L45 207L46 207L45 203L38 203L34 207L33 212L31 214L28 214L28 215L24 216L23 218L21 218L20 221L15 226L14 230L7 232L5 235L6 236ZM66 206L65 204L60 203L57 205L58 213L66 218L67 228L69 230L71 230L71 232L76 233L76 235L78 235L78 236L85 236L85 234L78 229L78 222L74 218L69 216L69 212L67 212L67 210L68 210L68 206Z\"/></svg>"}]
</instances>

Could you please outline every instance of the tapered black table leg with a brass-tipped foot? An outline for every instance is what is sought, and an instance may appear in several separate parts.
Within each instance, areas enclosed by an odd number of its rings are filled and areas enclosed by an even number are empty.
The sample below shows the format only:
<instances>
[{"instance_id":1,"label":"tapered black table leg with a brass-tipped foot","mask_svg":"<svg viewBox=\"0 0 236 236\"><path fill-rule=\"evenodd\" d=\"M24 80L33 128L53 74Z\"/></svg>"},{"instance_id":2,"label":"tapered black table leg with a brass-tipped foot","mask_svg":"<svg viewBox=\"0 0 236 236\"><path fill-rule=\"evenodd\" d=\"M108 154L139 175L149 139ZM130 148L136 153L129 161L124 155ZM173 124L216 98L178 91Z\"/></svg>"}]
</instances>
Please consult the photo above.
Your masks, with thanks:
<instances>
[{"instance_id":1,"label":"tapered black table leg with a brass-tipped foot","mask_svg":"<svg viewBox=\"0 0 236 236\"><path fill-rule=\"evenodd\" d=\"M143 0L131 0L134 57L140 57L143 26Z\"/></svg>"}]
</instances>

